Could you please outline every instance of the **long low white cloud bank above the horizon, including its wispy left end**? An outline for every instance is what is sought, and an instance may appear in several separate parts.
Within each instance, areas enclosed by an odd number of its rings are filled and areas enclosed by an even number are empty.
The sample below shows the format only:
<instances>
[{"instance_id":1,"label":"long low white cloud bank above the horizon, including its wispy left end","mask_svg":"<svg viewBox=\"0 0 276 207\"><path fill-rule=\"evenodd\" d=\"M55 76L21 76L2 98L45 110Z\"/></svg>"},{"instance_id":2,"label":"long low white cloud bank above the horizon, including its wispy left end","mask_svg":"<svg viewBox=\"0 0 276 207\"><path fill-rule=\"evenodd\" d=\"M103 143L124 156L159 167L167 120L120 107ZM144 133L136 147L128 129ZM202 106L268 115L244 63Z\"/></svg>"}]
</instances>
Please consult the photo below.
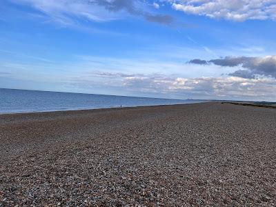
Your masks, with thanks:
<instances>
[{"instance_id":1,"label":"long low white cloud bank above the horizon, including its wispy left end","mask_svg":"<svg viewBox=\"0 0 276 207\"><path fill-rule=\"evenodd\" d=\"M93 76L93 75L92 75ZM275 101L276 80L270 78L244 79L241 77L174 77L164 74L97 73L104 83L132 94L193 99L239 99ZM81 85L93 83L89 78L75 80Z\"/></svg>"}]
</instances>

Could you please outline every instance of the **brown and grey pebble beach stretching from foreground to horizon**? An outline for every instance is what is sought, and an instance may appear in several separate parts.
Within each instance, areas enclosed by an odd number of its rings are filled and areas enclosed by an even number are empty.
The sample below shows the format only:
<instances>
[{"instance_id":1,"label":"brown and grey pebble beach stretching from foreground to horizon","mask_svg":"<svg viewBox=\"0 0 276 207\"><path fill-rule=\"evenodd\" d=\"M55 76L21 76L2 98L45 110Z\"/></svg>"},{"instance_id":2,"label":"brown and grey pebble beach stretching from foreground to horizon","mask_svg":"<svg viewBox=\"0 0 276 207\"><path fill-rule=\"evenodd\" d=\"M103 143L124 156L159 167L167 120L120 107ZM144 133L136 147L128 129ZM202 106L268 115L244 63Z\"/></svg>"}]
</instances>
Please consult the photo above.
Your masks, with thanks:
<instances>
[{"instance_id":1,"label":"brown and grey pebble beach stretching from foreground to horizon","mask_svg":"<svg viewBox=\"0 0 276 207\"><path fill-rule=\"evenodd\" d=\"M276 110L0 115L0 206L276 206Z\"/></svg>"}]
</instances>

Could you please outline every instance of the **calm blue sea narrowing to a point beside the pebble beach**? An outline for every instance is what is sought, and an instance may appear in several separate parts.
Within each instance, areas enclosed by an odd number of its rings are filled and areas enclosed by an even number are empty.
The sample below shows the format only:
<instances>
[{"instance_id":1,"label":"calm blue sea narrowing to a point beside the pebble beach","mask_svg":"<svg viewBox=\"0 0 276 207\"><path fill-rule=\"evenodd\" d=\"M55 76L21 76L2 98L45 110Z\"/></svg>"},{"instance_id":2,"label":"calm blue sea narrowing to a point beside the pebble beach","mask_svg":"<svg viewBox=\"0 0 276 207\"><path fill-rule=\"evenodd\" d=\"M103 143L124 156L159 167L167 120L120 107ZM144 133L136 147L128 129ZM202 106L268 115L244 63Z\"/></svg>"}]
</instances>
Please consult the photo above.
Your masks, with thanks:
<instances>
[{"instance_id":1,"label":"calm blue sea narrowing to a point beside the pebble beach","mask_svg":"<svg viewBox=\"0 0 276 207\"><path fill-rule=\"evenodd\" d=\"M154 106L179 103L199 103L197 100L152 99L92 95L70 92L13 90L0 88L0 113L79 110L127 106Z\"/></svg>"}]
</instances>

